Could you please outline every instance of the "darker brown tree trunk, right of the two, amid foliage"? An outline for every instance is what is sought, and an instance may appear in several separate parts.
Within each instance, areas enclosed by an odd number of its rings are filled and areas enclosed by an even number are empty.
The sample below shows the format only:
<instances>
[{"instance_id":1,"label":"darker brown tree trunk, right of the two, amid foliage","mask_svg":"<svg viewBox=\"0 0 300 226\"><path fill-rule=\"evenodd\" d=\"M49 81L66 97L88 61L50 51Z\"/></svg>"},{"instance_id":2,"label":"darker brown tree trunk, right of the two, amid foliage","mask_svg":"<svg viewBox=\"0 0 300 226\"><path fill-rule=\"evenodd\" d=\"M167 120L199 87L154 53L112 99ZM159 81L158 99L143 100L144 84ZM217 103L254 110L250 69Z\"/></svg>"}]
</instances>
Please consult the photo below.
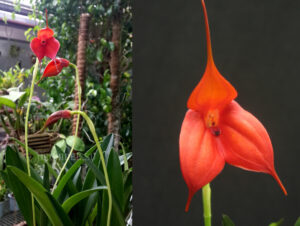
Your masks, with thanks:
<instances>
[{"instance_id":1,"label":"darker brown tree trunk, right of the two, amid foliage","mask_svg":"<svg viewBox=\"0 0 300 226\"><path fill-rule=\"evenodd\" d=\"M120 142L120 125L121 125L121 107L120 107L120 42L121 42L121 23L120 14L116 13L112 21L112 42L114 50L110 55L110 88L112 91L112 110L108 113L108 133L115 135L114 148L117 151Z\"/></svg>"}]
</instances>

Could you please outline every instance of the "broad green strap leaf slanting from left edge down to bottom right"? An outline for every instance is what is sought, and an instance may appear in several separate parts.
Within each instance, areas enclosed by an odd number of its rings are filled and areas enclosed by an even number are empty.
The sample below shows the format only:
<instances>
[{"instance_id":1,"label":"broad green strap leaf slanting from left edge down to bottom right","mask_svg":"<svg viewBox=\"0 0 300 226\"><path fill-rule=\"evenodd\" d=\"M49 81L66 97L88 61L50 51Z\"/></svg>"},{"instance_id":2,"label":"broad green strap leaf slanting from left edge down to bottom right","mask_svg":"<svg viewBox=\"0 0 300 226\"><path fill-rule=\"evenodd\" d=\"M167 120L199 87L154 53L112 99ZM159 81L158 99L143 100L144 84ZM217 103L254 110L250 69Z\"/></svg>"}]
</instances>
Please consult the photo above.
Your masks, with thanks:
<instances>
[{"instance_id":1,"label":"broad green strap leaf slanting from left edge down to bottom right","mask_svg":"<svg viewBox=\"0 0 300 226\"><path fill-rule=\"evenodd\" d=\"M61 208L58 207L59 204L40 183L16 167L8 166L7 170L12 172L33 193L53 225L72 225L68 215L61 211Z\"/></svg>"}]
</instances>

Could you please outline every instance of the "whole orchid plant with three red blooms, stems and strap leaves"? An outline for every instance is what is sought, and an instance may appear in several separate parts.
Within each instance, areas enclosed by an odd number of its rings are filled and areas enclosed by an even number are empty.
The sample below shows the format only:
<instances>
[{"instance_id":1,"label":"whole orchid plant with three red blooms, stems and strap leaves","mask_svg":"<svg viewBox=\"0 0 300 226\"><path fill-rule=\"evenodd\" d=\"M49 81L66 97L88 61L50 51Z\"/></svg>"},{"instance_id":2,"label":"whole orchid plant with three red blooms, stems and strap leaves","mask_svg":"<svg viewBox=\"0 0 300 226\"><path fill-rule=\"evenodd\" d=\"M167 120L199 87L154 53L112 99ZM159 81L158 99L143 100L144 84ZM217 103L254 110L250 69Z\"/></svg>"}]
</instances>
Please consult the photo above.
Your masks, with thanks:
<instances>
[{"instance_id":1,"label":"whole orchid plant with three red blooms, stems and strap leaves","mask_svg":"<svg viewBox=\"0 0 300 226\"><path fill-rule=\"evenodd\" d=\"M15 194L27 224L33 226L47 225L48 223L52 225L93 225L95 221L97 225L125 226L125 218L130 212L129 203L132 191L131 169L127 162L129 156L126 155L124 149L122 156L113 150L114 137L112 135L100 143L92 120L85 112L81 111L81 87L77 66L67 59L57 57L60 43L54 38L54 31L48 26L47 10L46 28L38 31L37 37L30 42L30 47L37 58L25 116L25 144L14 139L17 144L25 148L26 158L24 159L19 152L8 146L6 151L7 167L1 171L5 182ZM90 129L95 145L84 154L79 153L80 158L74 162L71 161L71 156L76 146L75 139L59 172L57 173L49 163L44 162L45 170L43 178L41 178L30 163L30 155L34 158L38 158L38 156L28 146L28 119L38 66L45 57L50 58L51 61L44 69L37 84L47 77L59 75L63 68L71 66L75 69L79 104L78 109L74 111L54 112L38 133L43 133L48 126L62 118L70 119L73 115L78 115L75 137L77 137L79 129L79 116L82 116ZM98 152L94 153L95 150ZM91 156L92 159L90 159ZM84 181L81 176L83 164L88 166ZM50 174L55 177L53 186L50 183Z\"/></svg>"}]
</instances>

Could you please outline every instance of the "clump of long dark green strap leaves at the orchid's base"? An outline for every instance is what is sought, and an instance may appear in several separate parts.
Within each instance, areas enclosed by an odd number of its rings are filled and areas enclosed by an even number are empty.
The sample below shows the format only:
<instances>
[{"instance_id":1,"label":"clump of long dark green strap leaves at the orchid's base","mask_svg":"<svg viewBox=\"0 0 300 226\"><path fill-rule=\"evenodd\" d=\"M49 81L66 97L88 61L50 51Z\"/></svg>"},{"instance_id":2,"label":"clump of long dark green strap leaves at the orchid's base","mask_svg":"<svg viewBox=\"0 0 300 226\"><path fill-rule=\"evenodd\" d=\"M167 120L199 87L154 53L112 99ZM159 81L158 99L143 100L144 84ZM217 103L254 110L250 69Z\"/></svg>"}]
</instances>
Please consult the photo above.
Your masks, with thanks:
<instances>
[{"instance_id":1,"label":"clump of long dark green strap leaves at the orchid's base","mask_svg":"<svg viewBox=\"0 0 300 226\"><path fill-rule=\"evenodd\" d=\"M20 143L19 143L20 144ZM104 150L113 191L113 215L112 224L125 226L125 219L130 211L130 199L125 190L129 188L130 196L132 186L128 187L128 179L131 169L123 169L121 156L113 151L113 136L107 136L101 143ZM32 150L31 150L32 151ZM37 155L37 154L35 154ZM123 161L124 162L124 161ZM87 164L87 176L80 175L81 166ZM26 161L24 157L11 147L6 150L6 169L1 171L5 183L13 191L16 201L24 215L28 225L32 225L31 198L35 197L37 225L86 225L96 223L97 213L102 215L107 209L106 184L103 176L103 168L99 161L99 153L95 147L82 154L78 160L68 167L58 186L51 193L51 181L54 171L48 164L44 165L43 179L36 170L31 167L32 177L27 175ZM79 173L78 173L79 172ZM129 177L128 177L129 176ZM82 186L77 186L81 184ZM129 183L132 184L132 183ZM102 197L102 198L101 198ZM100 208L101 206L101 208ZM101 210L99 210L99 208ZM105 219L98 222L100 226L106 225Z\"/></svg>"}]
</instances>

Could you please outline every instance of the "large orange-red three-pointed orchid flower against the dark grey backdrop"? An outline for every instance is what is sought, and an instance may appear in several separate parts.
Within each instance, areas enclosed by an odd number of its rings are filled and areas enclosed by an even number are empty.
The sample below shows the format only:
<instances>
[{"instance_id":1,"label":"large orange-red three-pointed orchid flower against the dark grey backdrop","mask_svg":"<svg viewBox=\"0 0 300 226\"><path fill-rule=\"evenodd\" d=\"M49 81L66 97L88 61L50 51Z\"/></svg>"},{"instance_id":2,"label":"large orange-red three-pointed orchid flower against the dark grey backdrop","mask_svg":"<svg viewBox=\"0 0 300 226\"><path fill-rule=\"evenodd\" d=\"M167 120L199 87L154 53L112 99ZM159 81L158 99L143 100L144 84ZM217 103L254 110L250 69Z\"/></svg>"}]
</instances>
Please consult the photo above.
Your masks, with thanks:
<instances>
[{"instance_id":1,"label":"large orange-red three-pointed orchid flower against the dark grey backdrop","mask_svg":"<svg viewBox=\"0 0 300 226\"><path fill-rule=\"evenodd\" d=\"M207 41L205 73L192 92L180 132L180 166L189 189L185 210L193 195L211 182L225 162L272 175L287 192L275 168L273 148L264 126L234 99L237 92L215 66L204 0Z\"/></svg>"}]
</instances>

